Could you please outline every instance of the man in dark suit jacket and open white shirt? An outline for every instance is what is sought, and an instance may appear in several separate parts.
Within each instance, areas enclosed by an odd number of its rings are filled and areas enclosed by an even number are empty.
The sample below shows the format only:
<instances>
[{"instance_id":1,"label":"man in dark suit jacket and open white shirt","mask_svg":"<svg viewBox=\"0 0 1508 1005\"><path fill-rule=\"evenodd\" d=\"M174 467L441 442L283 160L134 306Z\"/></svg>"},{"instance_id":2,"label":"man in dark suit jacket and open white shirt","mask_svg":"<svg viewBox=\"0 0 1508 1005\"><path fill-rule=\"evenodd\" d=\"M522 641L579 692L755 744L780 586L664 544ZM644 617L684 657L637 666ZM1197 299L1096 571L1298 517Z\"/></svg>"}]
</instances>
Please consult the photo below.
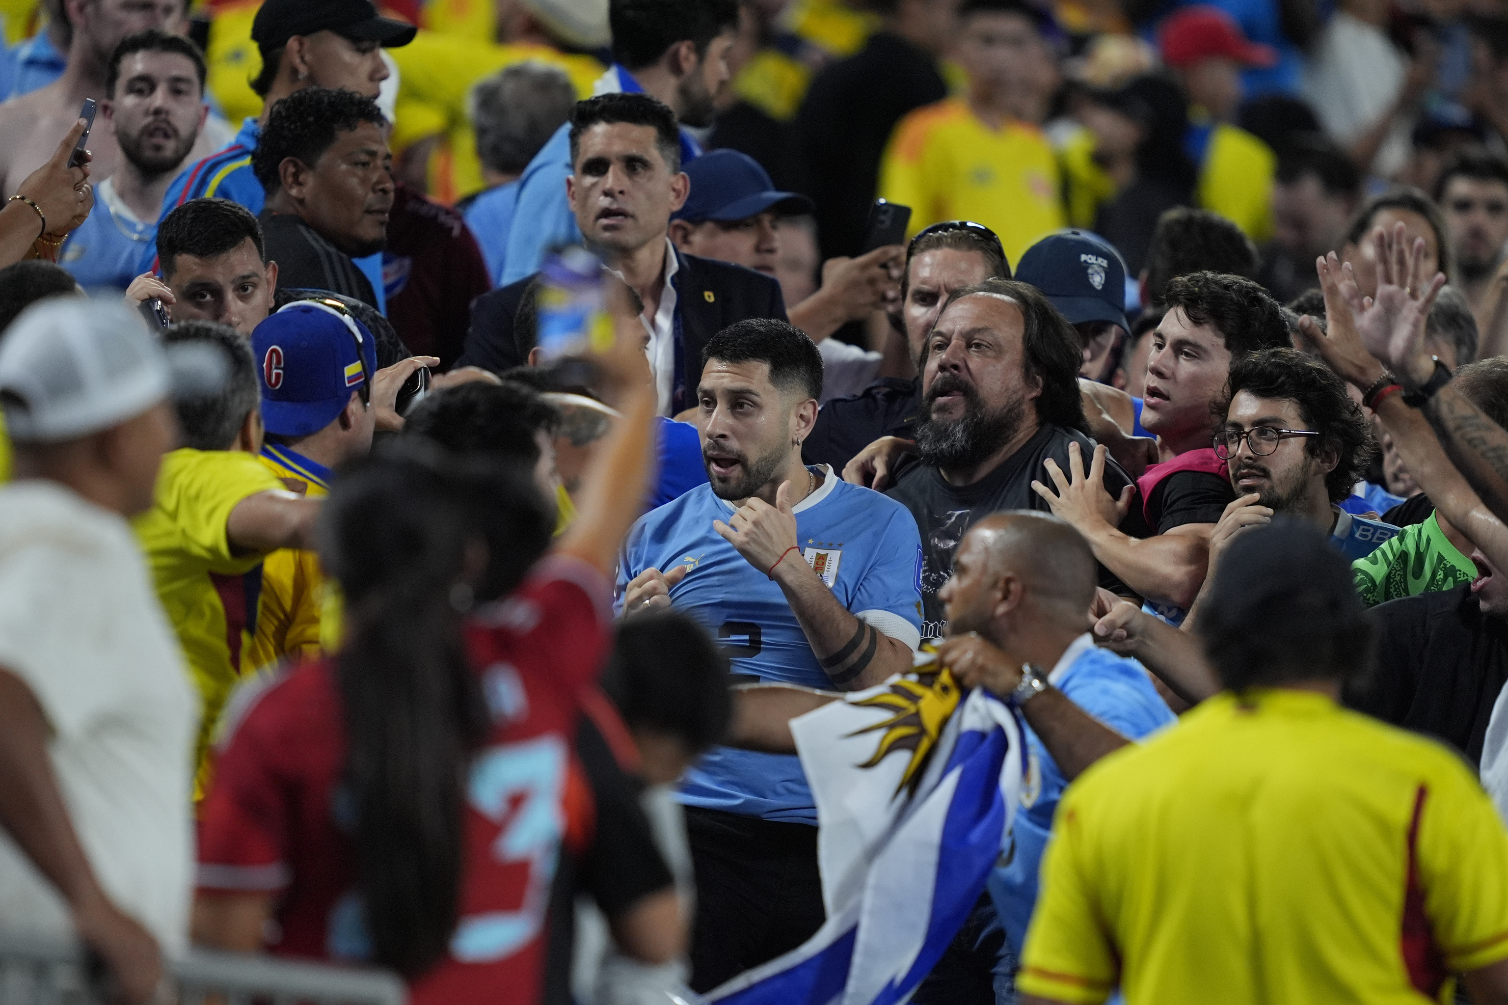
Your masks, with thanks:
<instances>
[{"instance_id":1,"label":"man in dark suit jacket and open white shirt","mask_svg":"<svg viewBox=\"0 0 1508 1005\"><path fill-rule=\"evenodd\" d=\"M691 189L680 171L680 133L668 107L644 94L606 94L572 112L572 177L566 196L588 246L644 302L650 370L662 415L697 401L701 349L751 317L786 320L780 284L751 269L677 252L670 216ZM460 364L507 370L528 362L516 315L534 276L472 303ZM529 297L532 299L532 297Z\"/></svg>"}]
</instances>

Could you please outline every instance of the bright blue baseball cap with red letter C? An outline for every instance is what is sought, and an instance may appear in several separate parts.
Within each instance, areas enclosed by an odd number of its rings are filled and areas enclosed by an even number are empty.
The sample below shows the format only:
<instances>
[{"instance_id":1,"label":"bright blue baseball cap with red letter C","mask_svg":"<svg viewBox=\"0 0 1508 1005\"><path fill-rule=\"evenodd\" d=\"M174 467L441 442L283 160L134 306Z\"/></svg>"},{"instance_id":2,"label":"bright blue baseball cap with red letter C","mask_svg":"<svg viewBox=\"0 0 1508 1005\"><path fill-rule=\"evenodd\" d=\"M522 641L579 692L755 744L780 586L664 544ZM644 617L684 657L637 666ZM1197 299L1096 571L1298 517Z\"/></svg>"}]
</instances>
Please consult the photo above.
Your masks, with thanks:
<instances>
[{"instance_id":1,"label":"bright blue baseball cap with red letter C","mask_svg":"<svg viewBox=\"0 0 1508 1005\"><path fill-rule=\"evenodd\" d=\"M294 300L252 332L262 426L277 436L318 433L377 373L377 340L338 300Z\"/></svg>"}]
</instances>

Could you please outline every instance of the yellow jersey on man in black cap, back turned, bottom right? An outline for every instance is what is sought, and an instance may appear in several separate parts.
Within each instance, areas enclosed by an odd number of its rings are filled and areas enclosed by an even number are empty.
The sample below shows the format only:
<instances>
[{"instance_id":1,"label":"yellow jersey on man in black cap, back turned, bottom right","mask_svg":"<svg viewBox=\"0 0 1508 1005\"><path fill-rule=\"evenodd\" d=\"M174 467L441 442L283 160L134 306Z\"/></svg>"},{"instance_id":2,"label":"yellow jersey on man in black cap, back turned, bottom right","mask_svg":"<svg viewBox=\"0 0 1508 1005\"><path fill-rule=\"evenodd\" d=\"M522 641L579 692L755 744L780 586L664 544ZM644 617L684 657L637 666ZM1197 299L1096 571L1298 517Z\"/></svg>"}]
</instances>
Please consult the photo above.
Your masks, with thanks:
<instances>
[{"instance_id":1,"label":"yellow jersey on man in black cap, back turned, bottom right","mask_svg":"<svg viewBox=\"0 0 1508 1005\"><path fill-rule=\"evenodd\" d=\"M1508 834L1443 745L1220 694L1059 804L1016 985L1063 1002L1419 1005L1508 957Z\"/></svg>"}]
</instances>

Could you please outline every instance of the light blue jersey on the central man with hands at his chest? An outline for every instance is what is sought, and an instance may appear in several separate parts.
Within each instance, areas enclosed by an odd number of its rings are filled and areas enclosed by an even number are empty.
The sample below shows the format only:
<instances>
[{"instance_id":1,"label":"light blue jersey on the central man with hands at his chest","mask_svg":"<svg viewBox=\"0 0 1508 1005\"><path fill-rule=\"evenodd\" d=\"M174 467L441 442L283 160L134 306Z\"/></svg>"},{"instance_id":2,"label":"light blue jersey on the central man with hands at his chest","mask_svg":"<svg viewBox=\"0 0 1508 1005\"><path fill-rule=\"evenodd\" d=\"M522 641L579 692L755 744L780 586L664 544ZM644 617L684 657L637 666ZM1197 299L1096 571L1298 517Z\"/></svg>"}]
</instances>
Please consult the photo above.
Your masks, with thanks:
<instances>
[{"instance_id":1,"label":"light blue jersey on the central man with hands at his chest","mask_svg":"<svg viewBox=\"0 0 1508 1005\"><path fill-rule=\"evenodd\" d=\"M894 499L846 484L831 468L796 507L796 540L807 563L838 602L912 649L921 640L921 536ZM617 604L633 576L688 566L670 592L671 605L707 626L749 681L831 688L780 585L722 540L733 504L703 484L639 518L618 563ZM786 561L795 558L792 555ZM715 747L682 782L686 806L816 824L801 759Z\"/></svg>"}]
</instances>

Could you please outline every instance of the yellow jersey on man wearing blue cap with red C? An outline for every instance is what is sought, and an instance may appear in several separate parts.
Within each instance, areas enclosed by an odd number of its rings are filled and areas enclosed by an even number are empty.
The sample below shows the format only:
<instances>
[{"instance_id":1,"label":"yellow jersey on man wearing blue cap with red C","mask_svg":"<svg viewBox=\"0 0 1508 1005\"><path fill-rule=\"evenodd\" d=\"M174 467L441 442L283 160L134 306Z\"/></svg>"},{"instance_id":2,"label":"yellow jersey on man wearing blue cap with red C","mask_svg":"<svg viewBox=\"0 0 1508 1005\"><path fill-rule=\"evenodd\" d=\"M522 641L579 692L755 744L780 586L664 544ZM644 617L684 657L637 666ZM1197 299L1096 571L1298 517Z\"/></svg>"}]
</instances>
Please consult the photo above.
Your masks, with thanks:
<instances>
[{"instance_id":1,"label":"yellow jersey on man wearing blue cap with red C","mask_svg":"<svg viewBox=\"0 0 1508 1005\"><path fill-rule=\"evenodd\" d=\"M309 498L330 493L330 472L308 457L277 444L262 447L261 462L282 487ZM246 649L241 672L250 673L291 656L318 656L320 608L324 602L324 572L320 555L302 548L282 548L262 561L256 637Z\"/></svg>"}]
</instances>

